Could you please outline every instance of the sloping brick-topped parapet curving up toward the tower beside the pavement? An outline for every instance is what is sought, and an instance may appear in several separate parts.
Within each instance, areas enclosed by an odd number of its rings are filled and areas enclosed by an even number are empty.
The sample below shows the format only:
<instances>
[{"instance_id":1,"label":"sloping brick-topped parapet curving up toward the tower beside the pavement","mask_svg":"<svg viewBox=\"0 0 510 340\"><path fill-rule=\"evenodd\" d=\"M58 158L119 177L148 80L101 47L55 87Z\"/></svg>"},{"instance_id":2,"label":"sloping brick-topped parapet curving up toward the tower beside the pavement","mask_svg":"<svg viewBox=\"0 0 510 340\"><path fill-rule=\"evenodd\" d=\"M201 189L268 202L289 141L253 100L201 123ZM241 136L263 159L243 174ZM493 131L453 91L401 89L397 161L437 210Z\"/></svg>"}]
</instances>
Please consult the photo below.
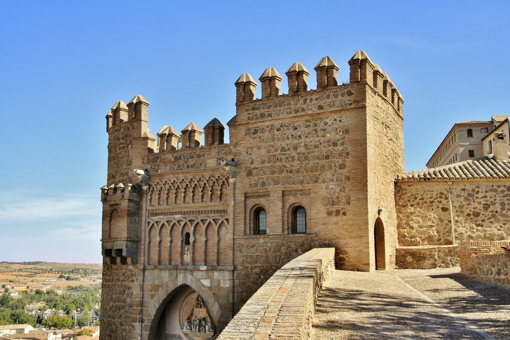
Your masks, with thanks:
<instances>
[{"instance_id":1,"label":"sloping brick-topped parapet curving up toward the tower beside the pavement","mask_svg":"<svg viewBox=\"0 0 510 340\"><path fill-rule=\"evenodd\" d=\"M334 268L334 248L315 248L278 270L218 336L309 339L317 296Z\"/></svg>"}]
</instances>

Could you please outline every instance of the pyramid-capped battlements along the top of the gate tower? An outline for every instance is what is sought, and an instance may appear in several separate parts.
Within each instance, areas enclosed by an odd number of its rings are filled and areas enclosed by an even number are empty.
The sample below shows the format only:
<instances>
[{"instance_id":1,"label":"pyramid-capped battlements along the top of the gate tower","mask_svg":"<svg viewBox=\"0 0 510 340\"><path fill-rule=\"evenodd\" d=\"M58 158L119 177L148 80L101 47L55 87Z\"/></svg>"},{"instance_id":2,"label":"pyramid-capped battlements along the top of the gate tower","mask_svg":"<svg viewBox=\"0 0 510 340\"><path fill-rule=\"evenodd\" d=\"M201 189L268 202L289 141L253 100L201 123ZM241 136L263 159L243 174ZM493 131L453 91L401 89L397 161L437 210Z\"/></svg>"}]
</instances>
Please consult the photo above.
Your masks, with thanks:
<instances>
[{"instance_id":1,"label":"pyramid-capped battlements along the top of the gate tower","mask_svg":"<svg viewBox=\"0 0 510 340\"><path fill-rule=\"evenodd\" d=\"M253 80L249 73L243 73L235 82L238 112L229 123L275 117L274 114L264 114L261 111L275 109L276 107L281 108L282 106L290 106L287 110L289 111L288 114L295 114L295 101L278 102L275 105L263 104L268 100L278 100L279 98L287 100L293 96L310 96L310 98L305 98L298 103L307 106L306 103L308 102L308 106L310 106L310 110L303 111L303 109L300 109L301 113L327 108L346 108L359 101L359 99L353 97L353 94L360 91L356 92L352 87L363 84L368 85L380 97L391 103L394 110L402 117L402 96L379 65L374 64L363 50L357 51L348 61L348 64L350 67L350 84L339 86L338 71L340 67L330 57L323 57L314 67L317 75L317 90L309 90L308 78L310 72L300 62L296 62L285 72L288 79L289 93L284 95L282 95L281 88L282 76L274 67L268 67L259 77L262 84L261 99L255 98L257 82ZM328 104L327 108L322 106L321 109L320 106L317 107L312 103L317 101L321 97L320 93L324 91L328 91L327 97L331 97L332 103ZM253 106L253 103L257 104ZM246 104L250 105L246 106ZM174 127L165 125L158 132L156 142L156 138L150 134L147 127L148 106L149 102L141 95L133 97L127 105L121 100L117 101L106 116L110 142L145 138L147 140L147 154L224 144L225 127L217 118L213 118L203 129L191 122L181 130L181 134ZM276 114L276 116L279 115ZM115 129L114 127L118 128ZM205 135L204 145L201 143L202 135Z\"/></svg>"}]
</instances>

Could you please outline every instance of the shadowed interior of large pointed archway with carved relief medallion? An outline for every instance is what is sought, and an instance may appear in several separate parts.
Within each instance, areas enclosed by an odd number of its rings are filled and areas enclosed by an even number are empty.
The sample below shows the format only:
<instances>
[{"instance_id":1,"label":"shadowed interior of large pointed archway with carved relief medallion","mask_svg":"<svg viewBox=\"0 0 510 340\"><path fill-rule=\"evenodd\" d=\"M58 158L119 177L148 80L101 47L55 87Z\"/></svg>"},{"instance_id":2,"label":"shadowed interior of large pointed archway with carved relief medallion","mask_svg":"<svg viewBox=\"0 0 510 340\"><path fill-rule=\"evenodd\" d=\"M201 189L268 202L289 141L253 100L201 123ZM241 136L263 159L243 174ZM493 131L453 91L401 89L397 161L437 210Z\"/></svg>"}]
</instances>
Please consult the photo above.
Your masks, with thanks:
<instances>
[{"instance_id":1,"label":"shadowed interior of large pointed archway with carved relief medallion","mask_svg":"<svg viewBox=\"0 0 510 340\"><path fill-rule=\"evenodd\" d=\"M216 333L205 301L188 285L173 293L155 322L155 340L208 340Z\"/></svg>"}]
</instances>

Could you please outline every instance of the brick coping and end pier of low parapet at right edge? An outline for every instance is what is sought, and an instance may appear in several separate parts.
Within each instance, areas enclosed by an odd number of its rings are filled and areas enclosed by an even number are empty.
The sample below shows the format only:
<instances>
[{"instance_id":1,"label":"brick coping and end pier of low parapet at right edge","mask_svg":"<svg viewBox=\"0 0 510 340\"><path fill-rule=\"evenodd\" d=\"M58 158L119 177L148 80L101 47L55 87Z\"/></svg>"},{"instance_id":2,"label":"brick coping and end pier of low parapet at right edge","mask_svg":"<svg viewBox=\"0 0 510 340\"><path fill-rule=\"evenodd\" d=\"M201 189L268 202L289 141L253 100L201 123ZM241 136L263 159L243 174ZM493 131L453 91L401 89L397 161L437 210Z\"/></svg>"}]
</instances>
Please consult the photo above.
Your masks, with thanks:
<instances>
[{"instance_id":1,"label":"brick coping and end pier of low parapet at right edge","mask_svg":"<svg viewBox=\"0 0 510 340\"><path fill-rule=\"evenodd\" d=\"M503 254L502 246L510 247L508 241L465 241L458 244L458 257L461 260L461 273L472 275L474 268L473 257L477 255ZM507 258L510 259L510 257ZM478 258L476 261L480 261Z\"/></svg>"}]
</instances>

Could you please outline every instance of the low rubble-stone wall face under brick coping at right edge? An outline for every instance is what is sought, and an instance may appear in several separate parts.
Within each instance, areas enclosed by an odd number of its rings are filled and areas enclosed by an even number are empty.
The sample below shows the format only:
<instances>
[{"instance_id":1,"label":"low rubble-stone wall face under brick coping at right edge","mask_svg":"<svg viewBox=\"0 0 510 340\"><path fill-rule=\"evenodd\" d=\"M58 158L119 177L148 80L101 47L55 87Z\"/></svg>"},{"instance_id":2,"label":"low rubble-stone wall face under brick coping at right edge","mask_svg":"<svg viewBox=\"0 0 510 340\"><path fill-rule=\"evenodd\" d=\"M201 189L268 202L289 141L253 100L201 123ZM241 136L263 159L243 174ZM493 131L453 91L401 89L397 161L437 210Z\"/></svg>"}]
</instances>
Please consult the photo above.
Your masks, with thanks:
<instances>
[{"instance_id":1,"label":"low rubble-stone wall face under brick coping at right edge","mask_svg":"<svg viewBox=\"0 0 510 340\"><path fill-rule=\"evenodd\" d=\"M473 255L471 269L473 277L510 288L510 254Z\"/></svg>"}]
</instances>

